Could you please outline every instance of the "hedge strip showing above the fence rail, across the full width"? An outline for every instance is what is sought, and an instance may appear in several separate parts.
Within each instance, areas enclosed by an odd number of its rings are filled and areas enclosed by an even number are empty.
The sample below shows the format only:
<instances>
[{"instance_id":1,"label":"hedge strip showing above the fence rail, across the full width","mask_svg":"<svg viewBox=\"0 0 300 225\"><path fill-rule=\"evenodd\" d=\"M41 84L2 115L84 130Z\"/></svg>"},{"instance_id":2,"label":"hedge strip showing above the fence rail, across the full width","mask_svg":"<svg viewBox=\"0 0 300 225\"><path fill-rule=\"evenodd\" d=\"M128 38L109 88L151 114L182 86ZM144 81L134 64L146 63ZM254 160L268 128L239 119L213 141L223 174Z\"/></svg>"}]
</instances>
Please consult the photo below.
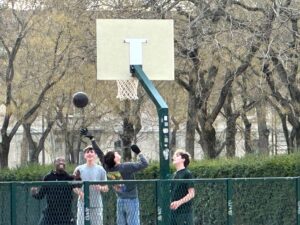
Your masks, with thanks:
<instances>
[{"instance_id":1,"label":"hedge strip showing above the fence rail, across the full width","mask_svg":"<svg viewBox=\"0 0 300 225\"><path fill-rule=\"evenodd\" d=\"M28 165L0 171L0 181L38 181L53 168L52 165ZM67 165L72 173L75 165ZM247 156L244 158L193 161L189 166L195 178L236 177L296 177L300 176L300 153L272 157ZM174 168L171 167L172 172ZM159 178L159 163L137 175L138 179Z\"/></svg>"}]
</instances>

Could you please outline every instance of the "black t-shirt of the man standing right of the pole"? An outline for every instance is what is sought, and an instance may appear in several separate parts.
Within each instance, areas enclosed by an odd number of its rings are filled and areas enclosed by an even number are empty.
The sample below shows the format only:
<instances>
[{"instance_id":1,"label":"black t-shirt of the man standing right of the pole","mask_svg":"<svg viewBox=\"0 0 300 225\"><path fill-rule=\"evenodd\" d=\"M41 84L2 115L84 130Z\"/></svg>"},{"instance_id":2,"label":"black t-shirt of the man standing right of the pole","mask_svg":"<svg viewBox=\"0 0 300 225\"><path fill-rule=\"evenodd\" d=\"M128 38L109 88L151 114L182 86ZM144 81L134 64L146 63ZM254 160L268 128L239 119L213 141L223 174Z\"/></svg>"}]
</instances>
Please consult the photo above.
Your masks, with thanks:
<instances>
[{"instance_id":1,"label":"black t-shirt of the man standing right of the pole","mask_svg":"<svg viewBox=\"0 0 300 225\"><path fill-rule=\"evenodd\" d=\"M174 173L173 179L192 179L192 173L184 168ZM171 185L171 201L177 201L188 194L188 189L193 188L192 182L172 182ZM192 210L192 200L182 204L175 210L175 213L189 213Z\"/></svg>"}]
</instances>

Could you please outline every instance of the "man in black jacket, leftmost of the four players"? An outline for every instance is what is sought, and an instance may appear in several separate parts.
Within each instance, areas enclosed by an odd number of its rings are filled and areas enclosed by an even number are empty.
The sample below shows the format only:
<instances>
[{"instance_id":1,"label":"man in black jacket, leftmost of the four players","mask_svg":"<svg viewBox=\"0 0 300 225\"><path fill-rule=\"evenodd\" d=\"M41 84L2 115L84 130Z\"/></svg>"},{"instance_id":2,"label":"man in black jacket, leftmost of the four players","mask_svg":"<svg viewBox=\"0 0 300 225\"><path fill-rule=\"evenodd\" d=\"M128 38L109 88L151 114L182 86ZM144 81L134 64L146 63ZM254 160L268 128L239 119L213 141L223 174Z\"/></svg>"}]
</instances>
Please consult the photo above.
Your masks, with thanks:
<instances>
[{"instance_id":1,"label":"man in black jacket, leftmost of the four players","mask_svg":"<svg viewBox=\"0 0 300 225\"><path fill-rule=\"evenodd\" d=\"M55 159L55 170L44 177L44 181L73 181L80 180L80 173L75 176L65 171L65 159ZM32 187L32 197L43 199L46 197L47 205L39 225L75 225L76 219L72 212L73 188L78 184L47 184L40 188Z\"/></svg>"}]
</instances>

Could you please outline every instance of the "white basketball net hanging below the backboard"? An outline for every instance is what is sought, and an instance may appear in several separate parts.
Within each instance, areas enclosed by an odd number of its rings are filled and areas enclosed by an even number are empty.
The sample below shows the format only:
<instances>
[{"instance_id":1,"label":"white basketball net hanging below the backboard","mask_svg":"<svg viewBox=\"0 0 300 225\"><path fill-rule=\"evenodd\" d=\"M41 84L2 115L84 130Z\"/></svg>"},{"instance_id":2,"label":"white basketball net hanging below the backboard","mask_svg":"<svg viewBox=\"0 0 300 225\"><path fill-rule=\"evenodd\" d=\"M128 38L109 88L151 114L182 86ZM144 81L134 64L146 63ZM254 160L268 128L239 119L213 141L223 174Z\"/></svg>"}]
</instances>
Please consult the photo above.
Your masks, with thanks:
<instances>
[{"instance_id":1,"label":"white basketball net hanging below the backboard","mask_svg":"<svg viewBox=\"0 0 300 225\"><path fill-rule=\"evenodd\" d=\"M137 100L137 88L139 80L136 77L132 77L129 80L117 80L118 95L117 98L123 100Z\"/></svg>"}]
</instances>

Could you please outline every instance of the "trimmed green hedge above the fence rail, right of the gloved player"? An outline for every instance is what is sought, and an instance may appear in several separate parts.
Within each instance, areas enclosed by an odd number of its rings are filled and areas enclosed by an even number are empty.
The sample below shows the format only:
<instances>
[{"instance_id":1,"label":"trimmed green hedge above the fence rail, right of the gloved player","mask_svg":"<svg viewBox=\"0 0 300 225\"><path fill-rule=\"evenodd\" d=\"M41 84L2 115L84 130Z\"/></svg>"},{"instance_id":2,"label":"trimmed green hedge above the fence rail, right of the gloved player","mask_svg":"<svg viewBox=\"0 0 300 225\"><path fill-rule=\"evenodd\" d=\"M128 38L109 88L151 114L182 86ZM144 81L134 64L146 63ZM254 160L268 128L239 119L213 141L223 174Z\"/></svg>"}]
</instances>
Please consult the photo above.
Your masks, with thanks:
<instances>
[{"instance_id":1,"label":"trimmed green hedge above the fence rail, right of the gloved player","mask_svg":"<svg viewBox=\"0 0 300 225\"><path fill-rule=\"evenodd\" d=\"M189 169L195 178L297 177L300 176L300 153L193 161ZM174 168L171 167L171 170L173 172ZM159 164L152 163L138 177L159 178Z\"/></svg>"}]
</instances>

